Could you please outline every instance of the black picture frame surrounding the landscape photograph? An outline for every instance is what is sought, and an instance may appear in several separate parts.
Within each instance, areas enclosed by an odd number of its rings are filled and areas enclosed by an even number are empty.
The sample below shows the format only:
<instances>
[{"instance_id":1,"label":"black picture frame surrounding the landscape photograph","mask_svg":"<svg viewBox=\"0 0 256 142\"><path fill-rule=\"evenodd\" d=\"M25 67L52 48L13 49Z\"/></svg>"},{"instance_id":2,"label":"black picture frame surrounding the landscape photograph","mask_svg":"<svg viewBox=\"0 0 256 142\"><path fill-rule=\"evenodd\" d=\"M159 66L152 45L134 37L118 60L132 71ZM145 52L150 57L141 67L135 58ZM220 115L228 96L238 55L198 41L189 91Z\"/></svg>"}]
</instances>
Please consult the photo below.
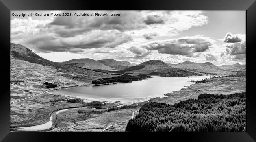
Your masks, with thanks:
<instances>
[{"instance_id":1,"label":"black picture frame surrounding the landscape photograph","mask_svg":"<svg viewBox=\"0 0 256 142\"><path fill-rule=\"evenodd\" d=\"M88 10L246 10L246 41L247 41L247 120L244 133L33 133L9 132L10 90L9 90L9 42L10 42L10 10L55 10L55 9L88 9ZM1 0L0 2L0 56L1 58L1 95L0 95L0 140L2 142L49 142L77 138L94 138L96 141L122 140L168 140L192 142L255 142L256 141L256 97L254 83L254 53L256 41L256 2L255 0L130 0L130 1L99 1L99 0ZM158 135L158 136L156 136ZM135 137L136 136L136 137Z\"/></svg>"}]
</instances>

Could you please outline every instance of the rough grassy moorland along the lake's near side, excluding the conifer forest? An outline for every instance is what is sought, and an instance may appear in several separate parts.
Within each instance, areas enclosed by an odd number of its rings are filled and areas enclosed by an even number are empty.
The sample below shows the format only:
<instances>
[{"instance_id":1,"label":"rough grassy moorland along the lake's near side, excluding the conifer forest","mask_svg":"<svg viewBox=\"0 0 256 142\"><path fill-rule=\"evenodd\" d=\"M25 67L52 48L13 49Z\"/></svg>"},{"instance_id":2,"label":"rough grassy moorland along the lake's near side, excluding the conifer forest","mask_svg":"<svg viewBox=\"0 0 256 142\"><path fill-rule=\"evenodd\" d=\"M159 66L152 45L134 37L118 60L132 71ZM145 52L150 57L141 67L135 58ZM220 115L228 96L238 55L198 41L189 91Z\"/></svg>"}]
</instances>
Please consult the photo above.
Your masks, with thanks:
<instances>
[{"instance_id":1,"label":"rough grassy moorland along the lake's near side, excluding the conifer forest","mask_svg":"<svg viewBox=\"0 0 256 142\"><path fill-rule=\"evenodd\" d=\"M178 103L190 98L198 98L199 94L231 94L246 91L246 77L215 78L207 83L199 83L187 86L180 91L166 94L168 97L154 98L150 102L162 102L168 104ZM63 96L61 96L63 97ZM70 98L70 96L65 96ZM70 107L82 107L83 103L52 102L54 95L41 94L10 105L10 127L26 127L43 124L48 121L50 114L58 109ZM147 102L147 101L146 101ZM145 103L145 102L144 102ZM117 104L107 104L117 106ZM126 123L136 115L140 107L136 109L122 109L102 114L79 114L78 111L67 111L58 114L56 127L52 131L102 131L109 125L113 125L105 131L125 131ZM121 125L114 125L121 124ZM104 131L104 132L105 132Z\"/></svg>"}]
</instances>

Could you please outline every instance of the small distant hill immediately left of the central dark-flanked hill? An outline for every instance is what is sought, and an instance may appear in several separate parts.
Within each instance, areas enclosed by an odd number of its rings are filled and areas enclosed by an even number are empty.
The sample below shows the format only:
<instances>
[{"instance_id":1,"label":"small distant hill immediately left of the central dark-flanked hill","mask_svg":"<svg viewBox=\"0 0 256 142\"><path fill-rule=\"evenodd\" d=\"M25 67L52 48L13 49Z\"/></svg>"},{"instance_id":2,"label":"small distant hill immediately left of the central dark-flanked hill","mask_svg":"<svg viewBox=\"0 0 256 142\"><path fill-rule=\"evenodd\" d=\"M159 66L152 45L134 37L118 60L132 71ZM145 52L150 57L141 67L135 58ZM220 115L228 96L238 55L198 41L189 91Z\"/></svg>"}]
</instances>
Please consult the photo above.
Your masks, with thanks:
<instances>
[{"instance_id":1,"label":"small distant hill immediately left of the central dark-flanked hill","mask_svg":"<svg viewBox=\"0 0 256 142\"><path fill-rule=\"evenodd\" d=\"M130 66L133 66L128 61L116 61L114 59L104 59L104 60L98 60L98 61L106 66L115 68L117 70L123 70L125 68L129 68Z\"/></svg>"}]
</instances>

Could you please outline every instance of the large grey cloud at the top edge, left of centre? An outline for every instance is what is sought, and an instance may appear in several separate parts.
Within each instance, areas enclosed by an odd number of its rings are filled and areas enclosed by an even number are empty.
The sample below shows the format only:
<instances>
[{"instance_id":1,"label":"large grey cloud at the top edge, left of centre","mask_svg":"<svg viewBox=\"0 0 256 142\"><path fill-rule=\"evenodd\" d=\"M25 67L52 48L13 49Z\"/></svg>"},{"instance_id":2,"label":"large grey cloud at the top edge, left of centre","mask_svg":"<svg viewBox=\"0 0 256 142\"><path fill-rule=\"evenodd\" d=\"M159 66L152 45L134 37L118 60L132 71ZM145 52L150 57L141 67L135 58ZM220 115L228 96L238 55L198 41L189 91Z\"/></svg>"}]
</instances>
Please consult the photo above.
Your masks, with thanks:
<instances>
[{"instance_id":1,"label":"large grey cloud at the top edge, left of centre","mask_svg":"<svg viewBox=\"0 0 256 142\"><path fill-rule=\"evenodd\" d=\"M143 16L137 11L63 11L63 13L120 13L121 16L59 16L48 26L56 26L56 33L63 37L92 30L128 31L144 28Z\"/></svg>"}]
</instances>

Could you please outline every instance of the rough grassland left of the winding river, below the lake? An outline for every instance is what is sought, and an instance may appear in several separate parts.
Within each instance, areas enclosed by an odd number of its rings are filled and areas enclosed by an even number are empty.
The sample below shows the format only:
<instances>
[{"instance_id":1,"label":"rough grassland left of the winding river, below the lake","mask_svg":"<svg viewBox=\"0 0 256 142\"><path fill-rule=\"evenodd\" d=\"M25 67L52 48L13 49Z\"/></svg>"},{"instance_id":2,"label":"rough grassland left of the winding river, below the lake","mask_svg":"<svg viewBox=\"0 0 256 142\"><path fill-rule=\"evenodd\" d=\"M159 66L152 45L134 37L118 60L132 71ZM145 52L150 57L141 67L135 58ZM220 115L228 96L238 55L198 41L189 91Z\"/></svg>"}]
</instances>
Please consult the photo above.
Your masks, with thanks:
<instances>
[{"instance_id":1,"label":"rough grassland left of the winding river, below the lake","mask_svg":"<svg viewBox=\"0 0 256 142\"><path fill-rule=\"evenodd\" d=\"M84 103L70 103L67 101L53 102L58 98L74 98L71 96L56 96L53 94L41 94L10 105L10 127L26 127L48 122L52 112L70 107L83 107ZM119 104L106 103L102 108L117 106Z\"/></svg>"}]
</instances>

